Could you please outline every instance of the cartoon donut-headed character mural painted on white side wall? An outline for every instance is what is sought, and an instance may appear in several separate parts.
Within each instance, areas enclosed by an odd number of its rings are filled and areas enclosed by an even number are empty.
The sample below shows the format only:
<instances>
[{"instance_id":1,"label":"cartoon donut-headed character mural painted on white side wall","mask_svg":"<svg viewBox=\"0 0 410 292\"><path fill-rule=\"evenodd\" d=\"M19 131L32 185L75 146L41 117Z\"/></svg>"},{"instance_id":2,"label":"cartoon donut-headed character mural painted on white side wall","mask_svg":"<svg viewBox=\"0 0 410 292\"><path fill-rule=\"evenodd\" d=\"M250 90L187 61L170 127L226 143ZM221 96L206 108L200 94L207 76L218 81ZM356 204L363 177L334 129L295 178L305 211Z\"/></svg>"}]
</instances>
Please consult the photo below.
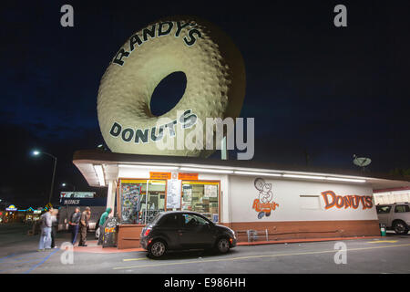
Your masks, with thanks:
<instances>
[{"instance_id":1,"label":"cartoon donut-headed character mural painted on white side wall","mask_svg":"<svg viewBox=\"0 0 410 292\"><path fill-rule=\"evenodd\" d=\"M252 209L258 212L258 219L263 218L263 216L269 217L272 211L276 210L279 206L278 203L272 202L272 183L265 183L261 178L255 179L255 188L259 191L259 199L253 201Z\"/></svg>"}]
</instances>

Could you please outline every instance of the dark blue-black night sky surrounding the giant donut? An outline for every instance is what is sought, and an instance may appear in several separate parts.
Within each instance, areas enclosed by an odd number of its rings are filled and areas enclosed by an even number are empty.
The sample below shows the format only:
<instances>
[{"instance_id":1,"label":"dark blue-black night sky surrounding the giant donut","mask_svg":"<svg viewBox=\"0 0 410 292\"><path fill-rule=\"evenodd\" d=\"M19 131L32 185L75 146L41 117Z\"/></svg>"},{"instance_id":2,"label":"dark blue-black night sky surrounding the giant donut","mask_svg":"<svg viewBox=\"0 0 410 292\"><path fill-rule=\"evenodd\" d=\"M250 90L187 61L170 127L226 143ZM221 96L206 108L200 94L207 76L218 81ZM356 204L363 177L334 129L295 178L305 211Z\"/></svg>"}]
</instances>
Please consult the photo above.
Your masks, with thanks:
<instances>
[{"instance_id":1,"label":"dark blue-black night sky surrounding the giant donut","mask_svg":"<svg viewBox=\"0 0 410 292\"><path fill-rule=\"evenodd\" d=\"M74 7L74 27L60 7ZM333 7L347 7L347 27ZM241 117L255 118L253 160L372 172L410 169L408 1L2 1L0 199L38 206L63 182L93 189L72 163L74 151L103 143L97 89L108 63L134 32L163 16L200 16L239 47L246 67ZM183 74L152 97L171 109ZM231 153L233 154L233 153ZM213 155L218 158L218 153Z\"/></svg>"}]
</instances>

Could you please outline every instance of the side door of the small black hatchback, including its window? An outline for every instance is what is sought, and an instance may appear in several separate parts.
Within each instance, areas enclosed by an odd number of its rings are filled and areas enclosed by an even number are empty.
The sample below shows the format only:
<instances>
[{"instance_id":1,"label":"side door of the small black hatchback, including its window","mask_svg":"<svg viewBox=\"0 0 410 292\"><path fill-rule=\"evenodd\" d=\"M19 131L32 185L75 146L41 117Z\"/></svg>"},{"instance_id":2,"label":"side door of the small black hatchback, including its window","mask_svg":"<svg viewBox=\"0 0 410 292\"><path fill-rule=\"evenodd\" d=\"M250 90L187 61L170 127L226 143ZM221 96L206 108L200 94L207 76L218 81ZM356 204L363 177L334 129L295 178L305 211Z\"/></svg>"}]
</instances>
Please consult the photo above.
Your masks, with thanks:
<instances>
[{"instance_id":1,"label":"side door of the small black hatchback, including its window","mask_svg":"<svg viewBox=\"0 0 410 292\"><path fill-rule=\"evenodd\" d=\"M206 248L214 241L214 234L206 220L195 214L182 214L179 244L182 248Z\"/></svg>"}]
</instances>

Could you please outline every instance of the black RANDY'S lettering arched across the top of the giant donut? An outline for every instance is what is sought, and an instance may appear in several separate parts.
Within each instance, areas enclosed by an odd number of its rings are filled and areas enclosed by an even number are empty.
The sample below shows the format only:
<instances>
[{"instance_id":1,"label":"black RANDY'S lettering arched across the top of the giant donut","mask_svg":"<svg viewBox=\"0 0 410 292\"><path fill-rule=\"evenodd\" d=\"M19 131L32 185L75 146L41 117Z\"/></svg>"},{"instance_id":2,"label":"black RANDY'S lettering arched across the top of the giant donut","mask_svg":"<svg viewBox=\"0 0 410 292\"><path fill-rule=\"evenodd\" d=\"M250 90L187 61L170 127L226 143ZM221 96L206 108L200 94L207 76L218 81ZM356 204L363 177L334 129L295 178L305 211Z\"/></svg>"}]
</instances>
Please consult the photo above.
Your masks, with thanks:
<instances>
[{"instance_id":1,"label":"black RANDY'S lettering arched across the top of the giant donut","mask_svg":"<svg viewBox=\"0 0 410 292\"><path fill-rule=\"evenodd\" d=\"M188 36L184 36L182 38L183 42L188 47L193 46L195 42L197 41L197 39L199 37L202 37L200 34L200 31L195 28L196 24L182 23L180 21L161 22L159 24L154 24L150 27L143 28L142 36L138 36L138 34L131 36L128 41L128 50L121 47L121 49L119 49L116 57L114 57L112 62L114 64L118 64L119 66L123 66L125 62L125 59L123 60L123 58L128 57L129 54L131 54L134 51L134 49L136 49L137 46L138 47L142 46L145 42L149 40L149 37L154 38L157 36L158 37L168 36L174 26L176 26L175 35L174 35L175 37L180 36L180 32L182 31L182 29L184 28L190 29L188 31Z\"/></svg>"}]
</instances>

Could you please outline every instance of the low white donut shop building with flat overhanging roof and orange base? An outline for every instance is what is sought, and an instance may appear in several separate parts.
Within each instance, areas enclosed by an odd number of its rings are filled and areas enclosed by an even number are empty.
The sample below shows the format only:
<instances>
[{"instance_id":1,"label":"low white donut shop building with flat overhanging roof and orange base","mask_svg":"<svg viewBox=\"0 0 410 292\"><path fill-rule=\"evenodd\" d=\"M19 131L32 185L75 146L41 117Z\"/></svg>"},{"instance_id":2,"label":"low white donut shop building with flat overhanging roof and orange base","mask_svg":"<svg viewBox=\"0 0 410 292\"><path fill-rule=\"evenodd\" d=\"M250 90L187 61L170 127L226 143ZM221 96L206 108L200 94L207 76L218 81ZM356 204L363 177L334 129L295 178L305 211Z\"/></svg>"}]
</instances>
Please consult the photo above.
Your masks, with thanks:
<instances>
[{"instance_id":1,"label":"low white donut shop building with flat overhanging roof and orange base","mask_svg":"<svg viewBox=\"0 0 410 292\"><path fill-rule=\"evenodd\" d=\"M117 205L120 221L118 248L138 247L142 226L167 210L204 214L240 241L249 230L269 240L380 235L373 193L410 187L249 161L77 151L73 162L90 186L108 187L107 206Z\"/></svg>"}]
</instances>

